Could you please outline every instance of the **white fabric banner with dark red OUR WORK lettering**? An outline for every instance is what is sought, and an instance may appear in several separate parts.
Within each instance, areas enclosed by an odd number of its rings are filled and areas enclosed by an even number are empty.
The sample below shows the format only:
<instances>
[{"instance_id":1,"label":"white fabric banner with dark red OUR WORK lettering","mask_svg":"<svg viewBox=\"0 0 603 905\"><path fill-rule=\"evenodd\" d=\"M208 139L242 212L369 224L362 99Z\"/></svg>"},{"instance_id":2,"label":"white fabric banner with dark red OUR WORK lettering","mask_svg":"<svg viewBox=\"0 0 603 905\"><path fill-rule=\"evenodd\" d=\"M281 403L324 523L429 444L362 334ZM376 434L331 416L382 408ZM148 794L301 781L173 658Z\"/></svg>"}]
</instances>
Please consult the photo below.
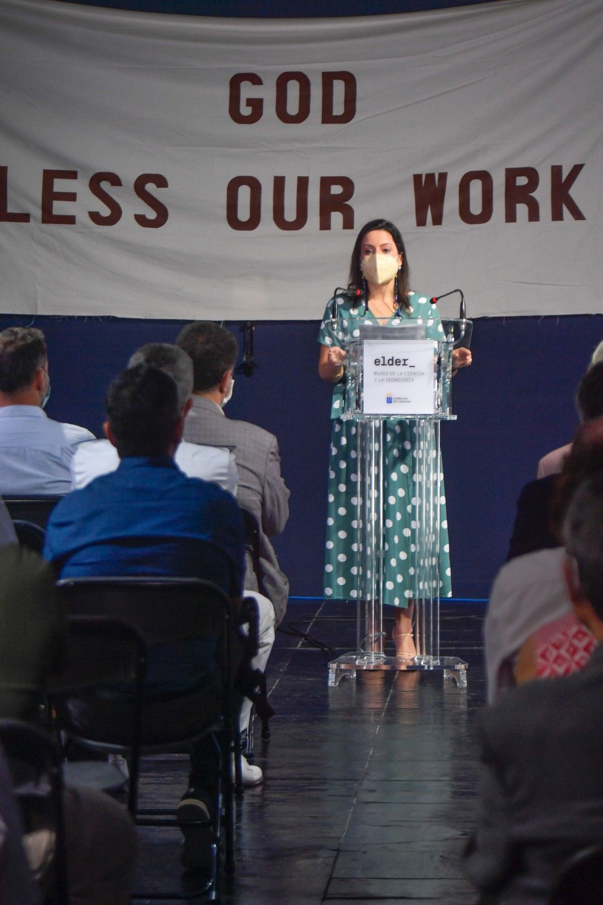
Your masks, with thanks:
<instances>
[{"instance_id":1,"label":"white fabric banner with dark red OUR WORK lettering","mask_svg":"<svg viewBox=\"0 0 603 905\"><path fill-rule=\"evenodd\" d=\"M459 286L469 316L600 311L601 46L601 0L314 20L0 0L2 309L316 319L384 216L412 287Z\"/></svg>"}]
</instances>

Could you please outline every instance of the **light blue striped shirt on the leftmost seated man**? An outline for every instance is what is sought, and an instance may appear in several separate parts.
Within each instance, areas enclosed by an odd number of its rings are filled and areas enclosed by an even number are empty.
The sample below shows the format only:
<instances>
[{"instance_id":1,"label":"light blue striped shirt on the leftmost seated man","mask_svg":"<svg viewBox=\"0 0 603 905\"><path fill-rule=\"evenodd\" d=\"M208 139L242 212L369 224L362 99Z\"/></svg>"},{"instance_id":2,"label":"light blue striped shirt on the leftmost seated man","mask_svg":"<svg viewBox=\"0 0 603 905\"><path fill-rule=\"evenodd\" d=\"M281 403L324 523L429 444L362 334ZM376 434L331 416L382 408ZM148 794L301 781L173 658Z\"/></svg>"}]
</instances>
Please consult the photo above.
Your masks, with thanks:
<instances>
[{"instance_id":1,"label":"light blue striped shirt on the leftmost seated man","mask_svg":"<svg viewBox=\"0 0 603 905\"><path fill-rule=\"evenodd\" d=\"M52 421L37 405L0 408L0 494L58 496L71 491L71 457L94 434Z\"/></svg>"}]
</instances>

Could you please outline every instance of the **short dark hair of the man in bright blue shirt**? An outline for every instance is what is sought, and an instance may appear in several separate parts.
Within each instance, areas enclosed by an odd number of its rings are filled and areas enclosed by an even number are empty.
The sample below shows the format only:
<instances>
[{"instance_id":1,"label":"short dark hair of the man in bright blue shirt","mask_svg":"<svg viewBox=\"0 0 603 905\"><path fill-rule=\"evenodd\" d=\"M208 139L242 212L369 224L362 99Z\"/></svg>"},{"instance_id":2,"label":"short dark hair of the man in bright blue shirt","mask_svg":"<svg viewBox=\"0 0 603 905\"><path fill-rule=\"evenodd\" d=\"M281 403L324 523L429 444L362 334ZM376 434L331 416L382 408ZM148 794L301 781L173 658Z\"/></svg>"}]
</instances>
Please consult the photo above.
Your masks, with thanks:
<instances>
[{"instance_id":1,"label":"short dark hair of the man in bright blue shirt","mask_svg":"<svg viewBox=\"0 0 603 905\"><path fill-rule=\"evenodd\" d=\"M128 367L112 380L105 399L119 458L166 455L180 419L178 389L158 367Z\"/></svg>"}]
</instances>

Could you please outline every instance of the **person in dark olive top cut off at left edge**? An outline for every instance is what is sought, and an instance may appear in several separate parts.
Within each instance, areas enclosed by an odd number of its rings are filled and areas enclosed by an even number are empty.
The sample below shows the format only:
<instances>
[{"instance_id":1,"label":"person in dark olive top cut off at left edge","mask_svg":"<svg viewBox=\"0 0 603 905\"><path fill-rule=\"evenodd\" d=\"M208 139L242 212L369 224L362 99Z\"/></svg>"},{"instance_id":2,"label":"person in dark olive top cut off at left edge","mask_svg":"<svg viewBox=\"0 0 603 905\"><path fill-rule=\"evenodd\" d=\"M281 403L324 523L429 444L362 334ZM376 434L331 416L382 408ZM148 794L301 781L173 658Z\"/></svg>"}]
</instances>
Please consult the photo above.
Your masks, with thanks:
<instances>
[{"instance_id":1,"label":"person in dark olive top cut off at left edge","mask_svg":"<svg viewBox=\"0 0 603 905\"><path fill-rule=\"evenodd\" d=\"M32 550L0 548L0 718L39 719L66 641L52 567ZM71 905L127 905L137 834L126 809L84 786L65 788L64 809Z\"/></svg>"}]
</instances>

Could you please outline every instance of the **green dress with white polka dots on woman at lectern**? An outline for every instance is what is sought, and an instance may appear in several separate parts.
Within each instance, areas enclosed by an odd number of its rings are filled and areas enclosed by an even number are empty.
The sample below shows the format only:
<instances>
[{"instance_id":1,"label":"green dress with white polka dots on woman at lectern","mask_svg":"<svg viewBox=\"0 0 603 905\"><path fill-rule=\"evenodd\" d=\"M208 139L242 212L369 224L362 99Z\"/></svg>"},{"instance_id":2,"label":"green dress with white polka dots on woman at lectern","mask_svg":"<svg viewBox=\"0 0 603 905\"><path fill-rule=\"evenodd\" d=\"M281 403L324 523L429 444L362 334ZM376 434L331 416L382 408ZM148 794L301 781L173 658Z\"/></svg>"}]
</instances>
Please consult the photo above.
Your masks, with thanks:
<instances>
[{"instance_id":1,"label":"green dress with white polka dots on woman at lectern","mask_svg":"<svg viewBox=\"0 0 603 905\"><path fill-rule=\"evenodd\" d=\"M404 318L417 319L426 327L426 337L440 339L443 336L438 310L429 303L427 296L410 292L410 311ZM318 342L323 346L344 345L344 336L358 336L361 324L376 324L371 311L363 315L363 306L356 307L353 300L338 298L341 331L335 333L329 323L333 300L325 310L320 326ZM391 317L393 326L400 320ZM357 443L356 425L342 421L344 384L336 384L333 391L331 418L331 454L329 457L328 507L326 519L325 597L327 599L353 600L358 595L358 567L356 544L357 514ZM417 450L413 427L397 418L388 418L384 424L383 448L383 500L384 500L384 587L383 603L406 607L414 597L414 536L413 511L416 503ZM448 545L448 521L443 475L440 474L440 597L452 595L450 583L450 556Z\"/></svg>"}]
</instances>

